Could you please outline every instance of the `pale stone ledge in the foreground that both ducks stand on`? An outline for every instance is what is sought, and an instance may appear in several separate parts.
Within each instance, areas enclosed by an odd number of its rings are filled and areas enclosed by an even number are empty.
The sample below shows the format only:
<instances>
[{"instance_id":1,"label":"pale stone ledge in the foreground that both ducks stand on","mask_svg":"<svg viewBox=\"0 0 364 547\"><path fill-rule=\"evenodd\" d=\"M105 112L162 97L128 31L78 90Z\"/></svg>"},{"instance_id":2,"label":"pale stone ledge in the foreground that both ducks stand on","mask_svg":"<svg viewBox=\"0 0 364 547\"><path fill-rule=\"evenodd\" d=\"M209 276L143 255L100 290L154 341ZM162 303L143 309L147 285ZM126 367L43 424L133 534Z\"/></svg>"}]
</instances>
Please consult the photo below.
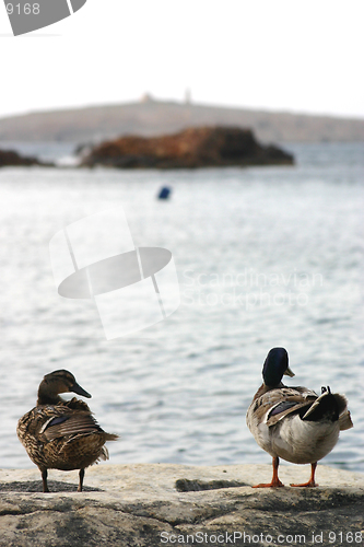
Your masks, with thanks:
<instances>
[{"instance_id":1,"label":"pale stone ledge in the foreground that both ducks stand on","mask_svg":"<svg viewBox=\"0 0 364 547\"><path fill-rule=\"evenodd\" d=\"M317 488L292 488L308 466L282 465L285 488L253 489L270 465L99 465L0 470L1 547L363 545L364 475L317 468Z\"/></svg>"}]
</instances>

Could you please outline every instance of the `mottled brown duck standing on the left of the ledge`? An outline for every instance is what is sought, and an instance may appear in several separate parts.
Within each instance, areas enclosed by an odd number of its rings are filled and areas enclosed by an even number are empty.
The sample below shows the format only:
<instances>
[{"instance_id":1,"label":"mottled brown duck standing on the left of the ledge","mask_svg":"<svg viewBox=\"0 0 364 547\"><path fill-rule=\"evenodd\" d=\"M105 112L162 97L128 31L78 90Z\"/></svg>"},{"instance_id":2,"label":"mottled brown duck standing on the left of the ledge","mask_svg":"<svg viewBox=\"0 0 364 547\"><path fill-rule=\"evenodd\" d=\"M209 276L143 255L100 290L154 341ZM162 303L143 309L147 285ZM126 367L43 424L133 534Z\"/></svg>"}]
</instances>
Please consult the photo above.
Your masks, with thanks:
<instances>
[{"instance_id":1,"label":"mottled brown duck standing on the left of the ledge","mask_svg":"<svg viewBox=\"0 0 364 547\"><path fill-rule=\"evenodd\" d=\"M82 492L85 468L108 459L105 443L116 441L118 435L98 426L86 403L77 397L64 400L61 393L91 398L71 372L50 372L39 384L36 406L19 420L16 433L39 468L44 492L49 492L48 469L80 469L78 491Z\"/></svg>"}]
</instances>

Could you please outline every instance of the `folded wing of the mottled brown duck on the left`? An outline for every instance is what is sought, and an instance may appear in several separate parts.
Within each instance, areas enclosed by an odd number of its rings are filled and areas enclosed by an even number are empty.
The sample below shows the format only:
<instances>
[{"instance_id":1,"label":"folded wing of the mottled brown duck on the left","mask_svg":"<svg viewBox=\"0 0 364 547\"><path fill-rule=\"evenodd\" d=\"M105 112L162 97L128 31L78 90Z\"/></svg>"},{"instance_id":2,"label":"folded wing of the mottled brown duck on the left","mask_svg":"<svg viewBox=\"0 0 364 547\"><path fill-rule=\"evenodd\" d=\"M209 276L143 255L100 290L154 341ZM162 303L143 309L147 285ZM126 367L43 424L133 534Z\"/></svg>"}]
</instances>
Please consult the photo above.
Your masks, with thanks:
<instances>
[{"instance_id":1,"label":"folded wing of the mottled brown duck on the left","mask_svg":"<svg viewBox=\"0 0 364 547\"><path fill-rule=\"evenodd\" d=\"M78 411L68 414L67 410L50 417L42 427L39 435L44 441L59 438L71 438L77 434L103 432L90 412Z\"/></svg>"}]
</instances>

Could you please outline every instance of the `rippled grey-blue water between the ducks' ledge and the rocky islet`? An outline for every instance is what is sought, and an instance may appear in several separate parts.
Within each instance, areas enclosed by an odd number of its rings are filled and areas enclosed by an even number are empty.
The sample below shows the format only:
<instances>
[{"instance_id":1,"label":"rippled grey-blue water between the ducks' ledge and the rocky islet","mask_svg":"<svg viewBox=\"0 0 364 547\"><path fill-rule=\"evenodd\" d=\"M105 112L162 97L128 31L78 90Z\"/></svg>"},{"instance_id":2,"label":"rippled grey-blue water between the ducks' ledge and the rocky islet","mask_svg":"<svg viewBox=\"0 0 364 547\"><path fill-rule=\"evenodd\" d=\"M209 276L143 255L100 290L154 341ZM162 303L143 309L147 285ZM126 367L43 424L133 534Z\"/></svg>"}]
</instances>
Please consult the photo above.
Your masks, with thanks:
<instances>
[{"instance_id":1,"label":"rippled grey-blue water between the ducks' ledge and the rocky islet","mask_svg":"<svg viewBox=\"0 0 364 547\"><path fill-rule=\"evenodd\" d=\"M16 421L61 368L120 434L114 464L268 463L245 414L268 350L284 346L289 385L349 398L354 429L325 463L364 472L364 146L289 148L294 167L0 171L1 467L33 465ZM164 184L168 202L155 199ZM91 301L61 299L54 284L51 236L115 206L136 245L174 254L181 305L152 338L107 341Z\"/></svg>"}]
</instances>

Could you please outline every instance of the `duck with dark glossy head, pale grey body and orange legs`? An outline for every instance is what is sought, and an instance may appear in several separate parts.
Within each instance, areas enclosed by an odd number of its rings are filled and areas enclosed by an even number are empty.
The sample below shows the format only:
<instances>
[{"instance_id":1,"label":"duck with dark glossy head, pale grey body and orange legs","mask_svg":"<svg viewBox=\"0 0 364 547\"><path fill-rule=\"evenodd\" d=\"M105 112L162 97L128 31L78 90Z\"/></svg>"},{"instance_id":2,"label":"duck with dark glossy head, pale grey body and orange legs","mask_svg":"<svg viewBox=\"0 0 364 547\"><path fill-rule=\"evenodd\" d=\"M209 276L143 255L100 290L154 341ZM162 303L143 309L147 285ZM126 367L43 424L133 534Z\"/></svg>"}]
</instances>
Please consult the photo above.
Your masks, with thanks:
<instances>
[{"instance_id":1,"label":"duck with dark glossy head, pale grey body and orange legs","mask_svg":"<svg viewBox=\"0 0 364 547\"><path fill-rule=\"evenodd\" d=\"M294 376L284 348L272 348L263 363L263 383L247 410L246 422L258 445L272 456L273 476L269 484L253 488L284 485L278 477L280 458L294 464L310 464L307 482L293 487L316 487L317 462L332 451L340 431L353 427L344 395L321 387L317 395L307 387L287 387L283 375Z\"/></svg>"}]
</instances>

